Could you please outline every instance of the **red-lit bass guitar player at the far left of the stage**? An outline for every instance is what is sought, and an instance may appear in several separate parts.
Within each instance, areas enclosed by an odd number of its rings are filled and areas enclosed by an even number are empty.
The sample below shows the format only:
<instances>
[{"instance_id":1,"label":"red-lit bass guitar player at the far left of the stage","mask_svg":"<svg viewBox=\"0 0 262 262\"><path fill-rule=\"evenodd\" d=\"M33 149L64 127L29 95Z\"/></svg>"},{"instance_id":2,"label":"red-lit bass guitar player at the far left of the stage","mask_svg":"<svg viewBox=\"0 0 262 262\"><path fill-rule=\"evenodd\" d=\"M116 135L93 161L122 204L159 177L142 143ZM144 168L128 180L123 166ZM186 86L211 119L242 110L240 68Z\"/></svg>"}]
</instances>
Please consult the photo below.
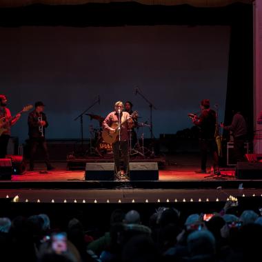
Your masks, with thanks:
<instances>
[{"instance_id":1,"label":"red-lit bass guitar player at the far left of the stage","mask_svg":"<svg viewBox=\"0 0 262 262\"><path fill-rule=\"evenodd\" d=\"M0 128L5 128L6 130L0 136L0 159L4 159L7 154L8 149L8 141L10 139L11 134L11 126L17 122L17 120L21 117L21 114L17 114L14 118L12 118L10 110L6 107L8 104L8 99L5 94L0 94L0 119L5 118L5 123Z\"/></svg>"}]
</instances>

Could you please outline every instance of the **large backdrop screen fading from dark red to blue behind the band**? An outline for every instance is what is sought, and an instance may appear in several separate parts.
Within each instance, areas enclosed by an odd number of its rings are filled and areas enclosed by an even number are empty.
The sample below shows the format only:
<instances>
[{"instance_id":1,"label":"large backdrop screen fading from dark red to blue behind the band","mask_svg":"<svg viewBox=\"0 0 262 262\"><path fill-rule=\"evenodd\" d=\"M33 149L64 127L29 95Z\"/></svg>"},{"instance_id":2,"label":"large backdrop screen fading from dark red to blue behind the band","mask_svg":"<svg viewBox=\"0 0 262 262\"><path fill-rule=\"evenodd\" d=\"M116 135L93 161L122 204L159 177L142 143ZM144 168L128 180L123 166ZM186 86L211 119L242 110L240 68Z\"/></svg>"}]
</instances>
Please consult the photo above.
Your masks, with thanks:
<instances>
[{"instance_id":1,"label":"large backdrop screen fading from dark red to blue behind the band","mask_svg":"<svg viewBox=\"0 0 262 262\"><path fill-rule=\"evenodd\" d=\"M228 26L21 27L0 28L1 92L12 112L43 100L49 138L79 137L74 117L101 97L91 113L105 117L115 101L130 100L141 121L154 105L154 135L190 127L188 112L209 98L223 117L228 74ZM98 122L84 117L88 125ZM148 134L148 129L146 129ZM26 116L12 134L26 138Z\"/></svg>"}]
</instances>

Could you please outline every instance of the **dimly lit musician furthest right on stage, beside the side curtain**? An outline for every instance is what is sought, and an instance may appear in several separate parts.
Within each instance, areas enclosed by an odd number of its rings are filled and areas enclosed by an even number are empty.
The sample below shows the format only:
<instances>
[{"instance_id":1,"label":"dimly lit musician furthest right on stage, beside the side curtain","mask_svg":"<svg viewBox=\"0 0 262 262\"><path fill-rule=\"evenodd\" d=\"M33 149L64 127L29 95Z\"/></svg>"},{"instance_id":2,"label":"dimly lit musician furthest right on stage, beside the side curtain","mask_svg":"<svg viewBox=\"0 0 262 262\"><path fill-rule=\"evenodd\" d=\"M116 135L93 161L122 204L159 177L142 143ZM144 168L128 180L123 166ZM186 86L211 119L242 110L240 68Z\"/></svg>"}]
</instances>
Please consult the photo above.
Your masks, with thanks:
<instances>
[{"instance_id":1,"label":"dimly lit musician furthest right on stage, beside the side curtain","mask_svg":"<svg viewBox=\"0 0 262 262\"><path fill-rule=\"evenodd\" d=\"M236 157L236 162L239 162L244 161L244 145L248 128L240 110L233 110L233 113L234 117L231 125L224 125L221 123L221 128L232 131L234 137L234 156Z\"/></svg>"}]
</instances>

